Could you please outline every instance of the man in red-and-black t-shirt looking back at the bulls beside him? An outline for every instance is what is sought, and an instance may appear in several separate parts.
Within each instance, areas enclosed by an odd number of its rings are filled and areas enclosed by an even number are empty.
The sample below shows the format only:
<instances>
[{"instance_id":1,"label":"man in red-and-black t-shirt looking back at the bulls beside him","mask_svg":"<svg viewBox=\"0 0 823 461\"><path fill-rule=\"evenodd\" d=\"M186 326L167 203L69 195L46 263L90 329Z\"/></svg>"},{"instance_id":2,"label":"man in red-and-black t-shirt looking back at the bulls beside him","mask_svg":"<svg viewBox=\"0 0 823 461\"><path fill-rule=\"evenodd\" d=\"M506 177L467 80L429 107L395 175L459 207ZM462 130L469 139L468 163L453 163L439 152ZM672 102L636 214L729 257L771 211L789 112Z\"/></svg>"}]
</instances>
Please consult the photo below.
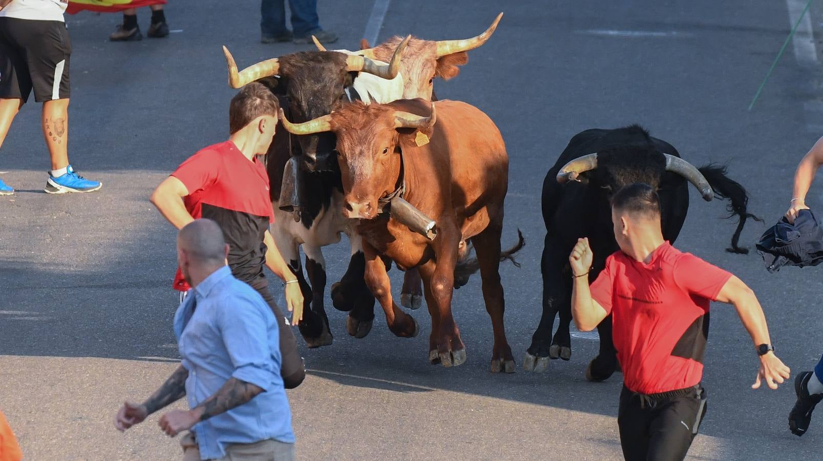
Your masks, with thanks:
<instances>
[{"instance_id":1,"label":"man in red-and-black t-shirt looking back at the bulls beside him","mask_svg":"<svg viewBox=\"0 0 823 461\"><path fill-rule=\"evenodd\" d=\"M200 217L221 226L230 247L232 274L257 290L277 317L281 373L286 389L292 389L305 378L303 359L288 320L268 290L263 265L284 281L286 305L293 312L294 324L303 318L303 294L269 234L274 212L268 175L256 158L272 143L279 107L277 98L262 84L244 86L229 105L229 140L205 147L184 161L157 186L151 203L177 229ZM174 289L184 293L189 288L178 268Z\"/></svg>"}]
</instances>

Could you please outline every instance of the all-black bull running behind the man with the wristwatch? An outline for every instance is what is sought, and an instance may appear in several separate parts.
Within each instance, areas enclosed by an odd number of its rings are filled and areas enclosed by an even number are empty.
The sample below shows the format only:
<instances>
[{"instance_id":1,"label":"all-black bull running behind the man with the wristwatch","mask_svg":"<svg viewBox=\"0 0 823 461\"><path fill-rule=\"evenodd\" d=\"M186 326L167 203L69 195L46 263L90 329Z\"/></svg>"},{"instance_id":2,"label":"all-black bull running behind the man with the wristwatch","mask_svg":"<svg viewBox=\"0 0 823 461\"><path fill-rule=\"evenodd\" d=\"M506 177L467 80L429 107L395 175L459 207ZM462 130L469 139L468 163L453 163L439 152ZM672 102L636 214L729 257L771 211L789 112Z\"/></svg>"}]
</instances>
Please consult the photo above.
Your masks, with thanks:
<instances>
[{"instance_id":1,"label":"all-black bull running behind the man with the wristwatch","mask_svg":"<svg viewBox=\"0 0 823 461\"><path fill-rule=\"evenodd\" d=\"M558 183L560 169L576 158L597 152L597 168L579 175L579 180ZM611 224L611 195L632 183L646 183L658 190L662 212L663 237L677 240L689 208L689 183L683 176L666 170L663 154L680 157L668 142L649 137L636 125L617 129L589 129L575 135L543 181L542 213L546 224L541 272L543 277L543 314L532 336L524 360L526 370L542 371L549 359L569 360L571 356L571 288L569 254L578 238L588 237L594 260L589 282L605 266L606 258L619 248ZM747 253L737 246L746 218L759 218L746 212L746 189L726 176L721 165L700 167L714 191L715 198L730 201L729 217L737 215L737 230L732 235L732 253ZM583 212L581 212L583 211ZM552 338L557 314L560 325ZM586 370L588 380L606 380L616 370L616 352L611 341L611 316L597 326L600 351Z\"/></svg>"}]
</instances>

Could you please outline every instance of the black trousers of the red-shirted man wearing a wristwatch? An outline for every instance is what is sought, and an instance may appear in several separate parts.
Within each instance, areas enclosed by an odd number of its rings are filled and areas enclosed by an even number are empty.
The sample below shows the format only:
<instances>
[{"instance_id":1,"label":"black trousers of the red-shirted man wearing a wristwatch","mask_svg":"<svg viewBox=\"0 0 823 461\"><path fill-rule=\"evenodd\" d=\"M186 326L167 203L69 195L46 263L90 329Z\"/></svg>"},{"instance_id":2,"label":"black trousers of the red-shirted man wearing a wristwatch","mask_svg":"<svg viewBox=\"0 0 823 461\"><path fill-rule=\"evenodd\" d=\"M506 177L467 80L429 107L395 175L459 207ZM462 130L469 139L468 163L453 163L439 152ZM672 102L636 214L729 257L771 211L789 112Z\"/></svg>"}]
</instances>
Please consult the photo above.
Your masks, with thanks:
<instances>
[{"instance_id":1,"label":"black trousers of the red-shirted man wearing a wristwatch","mask_svg":"<svg viewBox=\"0 0 823 461\"><path fill-rule=\"evenodd\" d=\"M623 386L617 426L626 461L686 458L706 414L706 391L700 385L644 395Z\"/></svg>"}]
</instances>

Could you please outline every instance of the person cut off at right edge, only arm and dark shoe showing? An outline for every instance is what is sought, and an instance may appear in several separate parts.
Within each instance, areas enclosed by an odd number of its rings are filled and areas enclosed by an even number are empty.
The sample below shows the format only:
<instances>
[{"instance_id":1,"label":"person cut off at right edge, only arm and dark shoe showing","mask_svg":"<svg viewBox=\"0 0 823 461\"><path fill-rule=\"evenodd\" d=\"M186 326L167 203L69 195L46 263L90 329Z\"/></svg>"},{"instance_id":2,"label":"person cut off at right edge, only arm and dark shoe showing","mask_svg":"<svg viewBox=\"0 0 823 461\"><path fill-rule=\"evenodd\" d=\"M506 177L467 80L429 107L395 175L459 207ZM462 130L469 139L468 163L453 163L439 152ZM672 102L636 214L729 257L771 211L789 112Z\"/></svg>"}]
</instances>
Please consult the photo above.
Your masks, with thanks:
<instances>
[{"instance_id":1,"label":"person cut off at right edge, only arm and dark shoe showing","mask_svg":"<svg viewBox=\"0 0 823 461\"><path fill-rule=\"evenodd\" d=\"M800 161L800 165L797 165L797 171L794 173L792 201L786 212L786 219L789 222L794 222L797 212L809 208L806 206L806 194L821 165L823 165L823 137L815 142L811 151L808 151ZM788 429L794 435L799 436L806 433L811 422L811 412L823 399L823 356L817 362L814 371L802 371L797 374L794 379L794 392L797 393L797 402L794 403L792 411L788 413Z\"/></svg>"}]
</instances>

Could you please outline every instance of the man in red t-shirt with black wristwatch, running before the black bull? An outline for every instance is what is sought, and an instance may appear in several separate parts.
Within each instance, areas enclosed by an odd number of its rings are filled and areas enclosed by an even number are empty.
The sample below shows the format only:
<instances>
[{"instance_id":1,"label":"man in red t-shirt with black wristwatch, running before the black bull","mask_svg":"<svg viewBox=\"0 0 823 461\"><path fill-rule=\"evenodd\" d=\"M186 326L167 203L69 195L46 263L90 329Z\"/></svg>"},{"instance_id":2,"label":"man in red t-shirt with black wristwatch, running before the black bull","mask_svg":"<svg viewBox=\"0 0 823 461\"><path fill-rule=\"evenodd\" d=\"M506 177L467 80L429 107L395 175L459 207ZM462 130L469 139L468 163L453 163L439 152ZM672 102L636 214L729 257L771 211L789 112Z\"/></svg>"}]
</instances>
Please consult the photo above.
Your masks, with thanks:
<instances>
[{"instance_id":1,"label":"man in red t-shirt with black wristwatch, running before the black bull","mask_svg":"<svg viewBox=\"0 0 823 461\"><path fill-rule=\"evenodd\" d=\"M572 316L581 331L612 314L613 341L623 370L617 412L625 459L685 459L706 407L700 385L709 334L709 302L734 305L755 343L760 370L752 389L788 380L774 355L763 310L739 278L663 240L658 194L631 184L611 203L620 251L591 287L588 239L574 246Z\"/></svg>"}]
</instances>

